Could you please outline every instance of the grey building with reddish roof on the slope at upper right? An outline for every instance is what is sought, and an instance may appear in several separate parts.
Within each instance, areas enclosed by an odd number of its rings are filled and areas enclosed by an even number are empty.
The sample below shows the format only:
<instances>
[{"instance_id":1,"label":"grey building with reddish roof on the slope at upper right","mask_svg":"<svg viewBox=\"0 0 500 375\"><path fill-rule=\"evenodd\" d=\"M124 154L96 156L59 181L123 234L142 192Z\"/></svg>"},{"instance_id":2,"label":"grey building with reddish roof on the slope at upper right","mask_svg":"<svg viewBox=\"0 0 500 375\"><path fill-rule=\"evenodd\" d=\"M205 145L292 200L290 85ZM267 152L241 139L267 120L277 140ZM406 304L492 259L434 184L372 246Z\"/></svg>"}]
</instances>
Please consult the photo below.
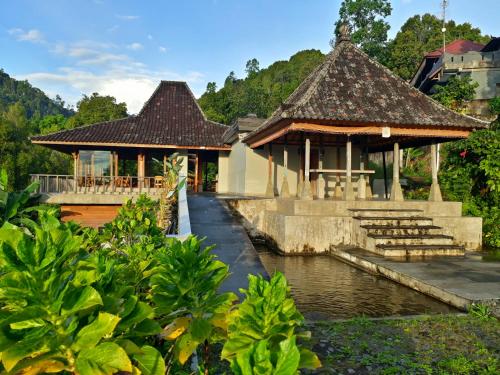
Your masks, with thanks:
<instances>
[{"instance_id":1,"label":"grey building with reddish roof on the slope at upper right","mask_svg":"<svg viewBox=\"0 0 500 375\"><path fill-rule=\"evenodd\" d=\"M436 85L445 85L450 77L469 76L479 84L469 103L471 113L489 116L488 101L500 96L500 38L487 45L455 40L424 56L411 84L425 94L433 94Z\"/></svg>"}]
</instances>

